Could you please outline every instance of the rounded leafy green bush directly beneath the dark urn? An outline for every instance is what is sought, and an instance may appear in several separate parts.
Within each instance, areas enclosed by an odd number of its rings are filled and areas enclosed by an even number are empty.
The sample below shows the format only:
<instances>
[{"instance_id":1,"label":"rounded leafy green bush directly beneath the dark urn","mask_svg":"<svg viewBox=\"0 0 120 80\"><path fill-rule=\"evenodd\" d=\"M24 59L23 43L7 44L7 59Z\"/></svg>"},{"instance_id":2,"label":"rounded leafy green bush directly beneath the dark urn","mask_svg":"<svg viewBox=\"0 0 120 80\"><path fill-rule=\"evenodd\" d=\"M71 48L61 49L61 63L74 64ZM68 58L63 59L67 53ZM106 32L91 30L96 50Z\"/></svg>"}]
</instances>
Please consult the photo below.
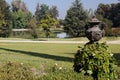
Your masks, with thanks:
<instances>
[{"instance_id":1,"label":"rounded leafy green bush directly beneath the dark urn","mask_svg":"<svg viewBox=\"0 0 120 80\"><path fill-rule=\"evenodd\" d=\"M90 75L94 80L113 80L116 77L114 62L105 43L86 44L75 55L74 70Z\"/></svg>"}]
</instances>

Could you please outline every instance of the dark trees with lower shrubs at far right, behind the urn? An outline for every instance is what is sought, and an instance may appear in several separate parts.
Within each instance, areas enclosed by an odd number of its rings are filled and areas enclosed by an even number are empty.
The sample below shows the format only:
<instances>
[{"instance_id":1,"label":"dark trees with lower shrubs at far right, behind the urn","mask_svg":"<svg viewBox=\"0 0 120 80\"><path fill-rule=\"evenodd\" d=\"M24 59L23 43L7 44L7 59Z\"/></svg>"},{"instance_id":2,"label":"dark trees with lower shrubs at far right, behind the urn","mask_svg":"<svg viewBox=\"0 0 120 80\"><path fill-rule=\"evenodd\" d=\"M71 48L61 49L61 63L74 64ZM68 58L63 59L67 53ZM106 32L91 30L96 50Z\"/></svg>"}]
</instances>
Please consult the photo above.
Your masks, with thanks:
<instances>
[{"instance_id":1,"label":"dark trees with lower shrubs at far right, behind the urn","mask_svg":"<svg viewBox=\"0 0 120 80\"><path fill-rule=\"evenodd\" d=\"M112 28L120 28L120 3L99 4L95 14L107 24L105 30L108 36L111 35ZM120 32L118 31L117 34L120 35Z\"/></svg>"}]
</instances>

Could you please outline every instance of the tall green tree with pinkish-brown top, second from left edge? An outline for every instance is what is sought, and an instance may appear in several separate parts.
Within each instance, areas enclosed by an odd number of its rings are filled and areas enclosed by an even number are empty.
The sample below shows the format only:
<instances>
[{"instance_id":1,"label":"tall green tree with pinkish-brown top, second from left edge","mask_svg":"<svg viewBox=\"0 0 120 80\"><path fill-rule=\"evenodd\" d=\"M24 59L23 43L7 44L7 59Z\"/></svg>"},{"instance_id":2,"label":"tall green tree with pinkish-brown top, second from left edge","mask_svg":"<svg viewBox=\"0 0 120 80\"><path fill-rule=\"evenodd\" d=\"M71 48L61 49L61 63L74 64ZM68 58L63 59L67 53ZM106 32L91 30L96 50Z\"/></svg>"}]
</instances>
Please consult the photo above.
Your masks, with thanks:
<instances>
[{"instance_id":1,"label":"tall green tree with pinkish-brown top, second from left edge","mask_svg":"<svg viewBox=\"0 0 120 80\"><path fill-rule=\"evenodd\" d=\"M21 0L12 1L12 26L21 29L28 28L28 23L32 19L32 14L28 11L26 4Z\"/></svg>"}]
</instances>

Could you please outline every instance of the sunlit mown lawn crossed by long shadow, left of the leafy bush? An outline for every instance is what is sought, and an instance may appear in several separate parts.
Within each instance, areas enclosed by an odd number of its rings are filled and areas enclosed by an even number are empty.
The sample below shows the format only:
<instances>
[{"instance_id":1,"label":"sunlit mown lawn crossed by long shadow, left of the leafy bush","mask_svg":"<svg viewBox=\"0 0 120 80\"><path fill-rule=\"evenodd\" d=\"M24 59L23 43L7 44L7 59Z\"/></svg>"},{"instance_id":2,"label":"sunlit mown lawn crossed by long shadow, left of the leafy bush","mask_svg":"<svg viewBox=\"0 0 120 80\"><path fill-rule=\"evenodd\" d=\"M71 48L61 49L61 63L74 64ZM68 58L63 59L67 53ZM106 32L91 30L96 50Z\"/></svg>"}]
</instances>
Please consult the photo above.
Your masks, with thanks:
<instances>
[{"instance_id":1,"label":"sunlit mown lawn crossed by long shadow, left of the leafy bush","mask_svg":"<svg viewBox=\"0 0 120 80\"><path fill-rule=\"evenodd\" d=\"M0 43L0 60L38 66L41 63L71 64L79 44ZM9 56L9 57L8 57Z\"/></svg>"}]
</instances>

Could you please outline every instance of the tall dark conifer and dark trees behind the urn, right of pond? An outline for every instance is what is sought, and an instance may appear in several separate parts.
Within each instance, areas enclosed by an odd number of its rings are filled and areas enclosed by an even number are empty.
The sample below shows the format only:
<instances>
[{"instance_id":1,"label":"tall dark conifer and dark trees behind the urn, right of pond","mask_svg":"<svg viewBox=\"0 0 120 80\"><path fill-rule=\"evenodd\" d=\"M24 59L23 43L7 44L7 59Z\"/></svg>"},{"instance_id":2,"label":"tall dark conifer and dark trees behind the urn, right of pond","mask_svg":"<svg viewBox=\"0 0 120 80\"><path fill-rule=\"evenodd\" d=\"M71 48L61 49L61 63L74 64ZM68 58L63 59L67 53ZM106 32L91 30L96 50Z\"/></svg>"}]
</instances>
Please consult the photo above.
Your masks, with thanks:
<instances>
[{"instance_id":1,"label":"tall dark conifer and dark trees behind the urn, right of pond","mask_svg":"<svg viewBox=\"0 0 120 80\"><path fill-rule=\"evenodd\" d=\"M71 37L84 36L84 27L92 16L96 16L104 25L106 36L112 36L112 28L120 28L120 3L100 3L95 11L85 10L81 0L75 0L67 11L64 20L64 30Z\"/></svg>"}]
</instances>

